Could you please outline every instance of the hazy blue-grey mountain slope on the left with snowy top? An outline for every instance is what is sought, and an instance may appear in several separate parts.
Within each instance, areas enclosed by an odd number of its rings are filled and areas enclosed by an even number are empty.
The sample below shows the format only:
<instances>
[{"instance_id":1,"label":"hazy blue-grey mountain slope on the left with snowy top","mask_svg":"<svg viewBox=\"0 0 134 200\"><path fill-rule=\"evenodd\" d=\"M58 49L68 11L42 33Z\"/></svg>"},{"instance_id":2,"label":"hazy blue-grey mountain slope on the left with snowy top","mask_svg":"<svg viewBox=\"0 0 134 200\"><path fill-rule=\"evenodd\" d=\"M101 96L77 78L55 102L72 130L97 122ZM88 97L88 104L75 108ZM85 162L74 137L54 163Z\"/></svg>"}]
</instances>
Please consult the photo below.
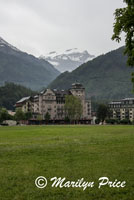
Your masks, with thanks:
<instances>
[{"instance_id":1,"label":"hazy blue-grey mountain slope on the left with snowy top","mask_svg":"<svg viewBox=\"0 0 134 200\"><path fill-rule=\"evenodd\" d=\"M0 37L0 85L8 81L38 90L46 87L59 74L44 59L22 52Z\"/></svg>"}]
</instances>

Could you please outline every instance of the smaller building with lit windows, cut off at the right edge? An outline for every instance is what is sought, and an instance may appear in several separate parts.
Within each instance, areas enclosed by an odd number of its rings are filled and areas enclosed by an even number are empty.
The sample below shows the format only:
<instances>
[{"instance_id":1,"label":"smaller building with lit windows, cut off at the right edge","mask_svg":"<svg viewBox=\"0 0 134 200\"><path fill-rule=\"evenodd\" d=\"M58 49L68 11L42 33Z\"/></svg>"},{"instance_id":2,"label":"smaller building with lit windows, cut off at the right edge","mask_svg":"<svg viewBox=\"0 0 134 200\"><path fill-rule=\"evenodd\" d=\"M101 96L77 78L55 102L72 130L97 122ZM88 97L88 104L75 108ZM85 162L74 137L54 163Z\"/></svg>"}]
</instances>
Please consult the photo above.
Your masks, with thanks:
<instances>
[{"instance_id":1,"label":"smaller building with lit windows, cut off at the right edge","mask_svg":"<svg viewBox=\"0 0 134 200\"><path fill-rule=\"evenodd\" d=\"M109 103L109 108L111 110L111 118L134 121L134 98L112 101Z\"/></svg>"}]
</instances>

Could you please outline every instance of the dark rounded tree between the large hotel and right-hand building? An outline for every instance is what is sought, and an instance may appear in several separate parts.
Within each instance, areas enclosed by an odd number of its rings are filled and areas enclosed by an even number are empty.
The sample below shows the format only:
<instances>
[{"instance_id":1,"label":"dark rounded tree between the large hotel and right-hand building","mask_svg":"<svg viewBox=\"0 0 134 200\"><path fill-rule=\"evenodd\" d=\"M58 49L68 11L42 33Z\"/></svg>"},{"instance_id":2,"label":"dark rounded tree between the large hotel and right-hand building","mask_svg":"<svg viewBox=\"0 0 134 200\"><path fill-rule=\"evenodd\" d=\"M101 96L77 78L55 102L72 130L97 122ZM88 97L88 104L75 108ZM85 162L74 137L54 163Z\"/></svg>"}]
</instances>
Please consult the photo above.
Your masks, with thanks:
<instances>
[{"instance_id":1,"label":"dark rounded tree between the large hotel and right-hand building","mask_svg":"<svg viewBox=\"0 0 134 200\"><path fill-rule=\"evenodd\" d=\"M109 115L109 109L105 104L100 104L97 110L97 119L99 122L104 122L106 117Z\"/></svg>"}]
</instances>

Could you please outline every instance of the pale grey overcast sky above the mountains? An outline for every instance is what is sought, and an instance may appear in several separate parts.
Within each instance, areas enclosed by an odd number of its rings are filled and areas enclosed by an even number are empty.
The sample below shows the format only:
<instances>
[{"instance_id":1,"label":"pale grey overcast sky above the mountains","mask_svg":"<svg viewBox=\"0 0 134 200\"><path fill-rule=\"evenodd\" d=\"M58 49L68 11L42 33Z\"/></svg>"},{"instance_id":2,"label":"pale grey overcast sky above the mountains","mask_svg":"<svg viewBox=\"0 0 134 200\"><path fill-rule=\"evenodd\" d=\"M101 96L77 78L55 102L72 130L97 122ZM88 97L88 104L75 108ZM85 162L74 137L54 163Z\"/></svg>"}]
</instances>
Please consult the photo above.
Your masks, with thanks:
<instances>
[{"instance_id":1,"label":"pale grey overcast sky above the mountains","mask_svg":"<svg viewBox=\"0 0 134 200\"><path fill-rule=\"evenodd\" d=\"M124 45L111 41L123 0L0 0L0 36L17 48L45 55L77 47L100 55Z\"/></svg>"}]
</instances>

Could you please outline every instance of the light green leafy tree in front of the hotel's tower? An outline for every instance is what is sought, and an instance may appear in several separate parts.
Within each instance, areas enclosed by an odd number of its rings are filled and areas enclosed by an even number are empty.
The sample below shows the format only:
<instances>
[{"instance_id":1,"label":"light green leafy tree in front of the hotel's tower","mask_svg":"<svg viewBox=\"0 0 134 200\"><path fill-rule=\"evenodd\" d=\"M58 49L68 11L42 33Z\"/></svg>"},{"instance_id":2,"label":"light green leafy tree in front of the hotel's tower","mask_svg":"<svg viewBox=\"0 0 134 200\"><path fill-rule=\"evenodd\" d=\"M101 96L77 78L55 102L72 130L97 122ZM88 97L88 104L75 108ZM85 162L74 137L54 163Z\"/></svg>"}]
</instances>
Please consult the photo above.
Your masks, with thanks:
<instances>
[{"instance_id":1,"label":"light green leafy tree in front of the hotel's tower","mask_svg":"<svg viewBox=\"0 0 134 200\"><path fill-rule=\"evenodd\" d=\"M66 117L71 121L80 119L82 115L82 104L78 97L66 95L64 108Z\"/></svg>"}]
</instances>

